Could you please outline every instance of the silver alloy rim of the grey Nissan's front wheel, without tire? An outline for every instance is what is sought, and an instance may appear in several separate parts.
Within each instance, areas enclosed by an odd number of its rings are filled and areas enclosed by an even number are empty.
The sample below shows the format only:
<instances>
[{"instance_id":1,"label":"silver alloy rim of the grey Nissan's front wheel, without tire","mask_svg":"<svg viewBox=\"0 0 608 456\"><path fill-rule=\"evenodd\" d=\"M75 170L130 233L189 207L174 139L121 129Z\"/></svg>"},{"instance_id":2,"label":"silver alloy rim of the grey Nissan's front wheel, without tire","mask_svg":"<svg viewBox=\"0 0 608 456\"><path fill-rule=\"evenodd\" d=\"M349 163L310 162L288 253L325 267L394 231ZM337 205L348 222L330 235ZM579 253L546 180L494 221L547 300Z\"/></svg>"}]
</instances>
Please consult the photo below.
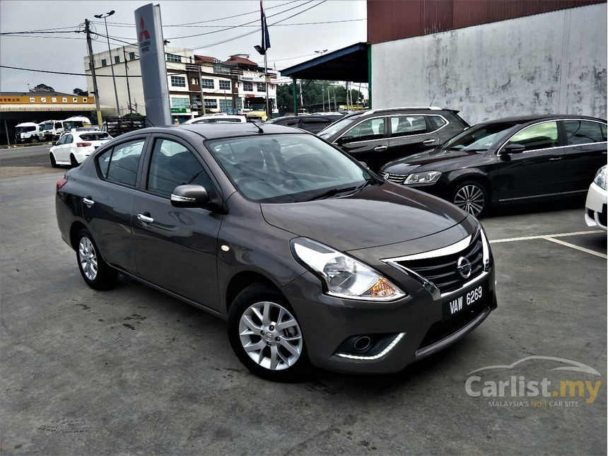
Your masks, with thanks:
<instances>
[{"instance_id":1,"label":"silver alloy rim of the grey Nissan's front wheel, without tire","mask_svg":"<svg viewBox=\"0 0 608 456\"><path fill-rule=\"evenodd\" d=\"M291 312L277 303L250 305L240 317L238 332L245 353L269 370L293 366L302 353L300 326Z\"/></svg>"}]
</instances>

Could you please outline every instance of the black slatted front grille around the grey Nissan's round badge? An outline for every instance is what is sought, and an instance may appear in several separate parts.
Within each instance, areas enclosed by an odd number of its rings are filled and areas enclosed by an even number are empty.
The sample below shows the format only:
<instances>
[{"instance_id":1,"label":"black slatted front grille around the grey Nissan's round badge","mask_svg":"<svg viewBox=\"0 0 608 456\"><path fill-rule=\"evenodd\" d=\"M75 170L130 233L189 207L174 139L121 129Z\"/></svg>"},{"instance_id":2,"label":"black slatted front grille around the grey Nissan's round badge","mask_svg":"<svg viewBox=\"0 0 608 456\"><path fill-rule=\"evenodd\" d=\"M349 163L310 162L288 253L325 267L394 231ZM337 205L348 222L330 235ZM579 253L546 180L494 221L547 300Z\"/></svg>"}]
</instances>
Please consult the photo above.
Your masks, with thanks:
<instances>
[{"instance_id":1,"label":"black slatted front grille around the grey Nissan's round badge","mask_svg":"<svg viewBox=\"0 0 608 456\"><path fill-rule=\"evenodd\" d=\"M471 274L464 278L457 269L458 259L465 257L471 262ZM402 267L420 274L439 288L441 293L454 291L477 277L484 270L484 249L481 234L460 252L443 257L413 259L397 262Z\"/></svg>"}]
</instances>

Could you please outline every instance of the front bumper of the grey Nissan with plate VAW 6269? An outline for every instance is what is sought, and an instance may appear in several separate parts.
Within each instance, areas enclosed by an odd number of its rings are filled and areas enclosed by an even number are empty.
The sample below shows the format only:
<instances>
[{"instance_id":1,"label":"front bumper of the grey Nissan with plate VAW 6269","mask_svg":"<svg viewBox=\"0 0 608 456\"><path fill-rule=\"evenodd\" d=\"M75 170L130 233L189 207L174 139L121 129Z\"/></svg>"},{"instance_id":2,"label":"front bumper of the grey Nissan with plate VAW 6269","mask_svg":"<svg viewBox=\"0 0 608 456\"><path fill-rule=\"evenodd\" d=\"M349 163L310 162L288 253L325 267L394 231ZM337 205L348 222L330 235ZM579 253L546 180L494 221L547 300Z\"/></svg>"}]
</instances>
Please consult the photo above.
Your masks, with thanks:
<instances>
[{"instance_id":1,"label":"front bumper of the grey Nissan with plate VAW 6269","mask_svg":"<svg viewBox=\"0 0 608 456\"><path fill-rule=\"evenodd\" d=\"M482 283L481 302L443 319L443 303L466 296ZM344 373L398 372L464 337L496 308L493 265L462 288L443 295L431 294L414 279L399 286L409 296L390 303L343 300L323 294L320 280L307 272L282 291L300 321L312 364ZM378 350L370 356L345 357L345 343L361 335L378 339Z\"/></svg>"}]
</instances>

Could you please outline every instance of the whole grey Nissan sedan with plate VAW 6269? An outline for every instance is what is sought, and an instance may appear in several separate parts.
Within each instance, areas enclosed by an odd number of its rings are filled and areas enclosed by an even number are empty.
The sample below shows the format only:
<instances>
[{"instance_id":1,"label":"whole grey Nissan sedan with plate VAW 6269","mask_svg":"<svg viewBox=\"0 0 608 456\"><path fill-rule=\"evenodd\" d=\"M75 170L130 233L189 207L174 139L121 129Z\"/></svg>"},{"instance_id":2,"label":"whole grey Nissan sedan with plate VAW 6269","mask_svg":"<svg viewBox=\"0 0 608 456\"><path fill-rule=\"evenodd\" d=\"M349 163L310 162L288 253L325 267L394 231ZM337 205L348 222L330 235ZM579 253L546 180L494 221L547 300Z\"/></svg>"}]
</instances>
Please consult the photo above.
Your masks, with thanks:
<instances>
[{"instance_id":1,"label":"whole grey Nissan sedan with plate VAW 6269","mask_svg":"<svg viewBox=\"0 0 608 456\"><path fill-rule=\"evenodd\" d=\"M228 320L270 380L402 370L496 308L474 217L288 127L124 134L66 173L56 209L88 286L125 274Z\"/></svg>"}]
</instances>

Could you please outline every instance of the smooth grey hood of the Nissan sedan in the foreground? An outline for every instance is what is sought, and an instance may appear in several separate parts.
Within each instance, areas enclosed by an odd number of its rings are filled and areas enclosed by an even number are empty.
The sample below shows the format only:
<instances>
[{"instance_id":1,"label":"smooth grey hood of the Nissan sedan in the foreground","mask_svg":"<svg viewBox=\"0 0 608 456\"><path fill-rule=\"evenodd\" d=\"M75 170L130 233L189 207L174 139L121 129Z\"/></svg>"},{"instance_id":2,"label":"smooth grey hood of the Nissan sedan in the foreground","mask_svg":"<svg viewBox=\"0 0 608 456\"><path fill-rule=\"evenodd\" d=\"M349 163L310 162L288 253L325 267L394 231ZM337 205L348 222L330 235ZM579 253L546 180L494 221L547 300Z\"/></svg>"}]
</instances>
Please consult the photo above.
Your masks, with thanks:
<instances>
[{"instance_id":1,"label":"smooth grey hood of the Nissan sedan in the foreground","mask_svg":"<svg viewBox=\"0 0 608 456\"><path fill-rule=\"evenodd\" d=\"M390 182L346 197L261 207L270 225L342 252L423 238L467 218L442 199Z\"/></svg>"}]
</instances>

